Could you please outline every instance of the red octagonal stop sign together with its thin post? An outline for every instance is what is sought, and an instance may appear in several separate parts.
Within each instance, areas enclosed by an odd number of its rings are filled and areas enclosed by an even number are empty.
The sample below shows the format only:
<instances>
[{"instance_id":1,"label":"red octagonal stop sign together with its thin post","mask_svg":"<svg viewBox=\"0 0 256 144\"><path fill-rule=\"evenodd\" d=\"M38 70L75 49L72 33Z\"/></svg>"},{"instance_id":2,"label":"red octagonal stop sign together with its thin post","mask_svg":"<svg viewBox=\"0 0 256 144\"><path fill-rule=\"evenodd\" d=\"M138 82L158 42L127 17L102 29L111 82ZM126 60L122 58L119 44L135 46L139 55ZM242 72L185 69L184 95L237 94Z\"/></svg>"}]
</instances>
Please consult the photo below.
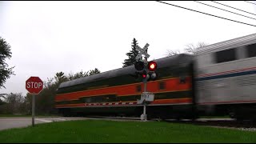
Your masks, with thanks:
<instances>
[{"instance_id":1,"label":"red octagonal stop sign together with its thin post","mask_svg":"<svg viewBox=\"0 0 256 144\"><path fill-rule=\"evenodd\" d=\"M35 94L39 94L42 91L43 82L39 77L30 77L26 80L26 90L32 94L32 126L34 126L34 106L35 106Z\"/></svg>"}]
</instances>

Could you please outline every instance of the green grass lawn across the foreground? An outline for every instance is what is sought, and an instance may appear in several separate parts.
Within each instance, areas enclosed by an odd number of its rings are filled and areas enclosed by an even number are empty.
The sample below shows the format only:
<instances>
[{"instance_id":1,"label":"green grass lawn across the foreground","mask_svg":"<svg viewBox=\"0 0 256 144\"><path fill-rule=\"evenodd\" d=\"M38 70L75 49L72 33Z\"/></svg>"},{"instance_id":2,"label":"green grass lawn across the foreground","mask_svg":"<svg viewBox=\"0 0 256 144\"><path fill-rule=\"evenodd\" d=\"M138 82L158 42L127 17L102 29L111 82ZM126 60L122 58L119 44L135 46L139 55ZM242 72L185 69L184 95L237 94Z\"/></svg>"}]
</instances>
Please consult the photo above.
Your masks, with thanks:
<instances>
[{"instance_id":1,"label":"green grass lawn across the foreground","mask_svg":"<svg viewBox=\"0 0 256 144\"><path fill-rule=\"evenodd\" d=\"M256 142L256 132L170 122L81 120L2 130L0 142Z\"/></svg>"}]
</instances>

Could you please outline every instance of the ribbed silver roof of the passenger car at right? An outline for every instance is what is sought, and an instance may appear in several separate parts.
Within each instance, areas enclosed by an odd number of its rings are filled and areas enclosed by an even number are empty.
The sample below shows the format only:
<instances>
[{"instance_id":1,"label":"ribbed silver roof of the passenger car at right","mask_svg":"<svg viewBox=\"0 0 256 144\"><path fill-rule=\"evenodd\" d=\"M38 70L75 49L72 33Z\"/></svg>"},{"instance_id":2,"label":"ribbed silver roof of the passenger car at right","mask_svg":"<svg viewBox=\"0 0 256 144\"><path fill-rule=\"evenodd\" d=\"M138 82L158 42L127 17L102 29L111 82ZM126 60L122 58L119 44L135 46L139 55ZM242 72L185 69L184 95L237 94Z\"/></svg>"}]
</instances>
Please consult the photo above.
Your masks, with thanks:
<instances>
[{"instance_id":1,"label":"ribbed silver roof of the passenger car at right","mask_svg":"<svg viewBox=\"0 0 256 144\"><path fill-rule=\"evenodd\" d=\"M233 47L250 45L256 42L256 34L250 34L239 38L230 39L212 45L203 46L196 50L196 55L208 54L218 50L226 50Z\"/></svg>"}]
</instances>

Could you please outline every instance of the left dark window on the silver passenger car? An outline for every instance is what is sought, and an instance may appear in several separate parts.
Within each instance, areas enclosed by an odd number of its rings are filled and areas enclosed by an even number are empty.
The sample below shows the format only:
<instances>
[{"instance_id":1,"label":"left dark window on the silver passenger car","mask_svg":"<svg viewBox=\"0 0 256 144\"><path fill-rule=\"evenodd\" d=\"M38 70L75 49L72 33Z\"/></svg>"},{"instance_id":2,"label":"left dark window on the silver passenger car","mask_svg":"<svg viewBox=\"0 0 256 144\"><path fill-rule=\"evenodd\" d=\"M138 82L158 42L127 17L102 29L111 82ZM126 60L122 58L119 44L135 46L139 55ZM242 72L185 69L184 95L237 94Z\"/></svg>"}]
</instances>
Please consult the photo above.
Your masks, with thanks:
<instances>
[{"instance_id":1,"label":"left dark window on the silver passenger car","mask_svg":"<svg viewBox=\"0 0 256 144\"><path fill-rule=\"evenodd\" d=\"M236 60L235 49L222 50L215 53L215 62L229 62Z\"/></svg>"}]
</instances>

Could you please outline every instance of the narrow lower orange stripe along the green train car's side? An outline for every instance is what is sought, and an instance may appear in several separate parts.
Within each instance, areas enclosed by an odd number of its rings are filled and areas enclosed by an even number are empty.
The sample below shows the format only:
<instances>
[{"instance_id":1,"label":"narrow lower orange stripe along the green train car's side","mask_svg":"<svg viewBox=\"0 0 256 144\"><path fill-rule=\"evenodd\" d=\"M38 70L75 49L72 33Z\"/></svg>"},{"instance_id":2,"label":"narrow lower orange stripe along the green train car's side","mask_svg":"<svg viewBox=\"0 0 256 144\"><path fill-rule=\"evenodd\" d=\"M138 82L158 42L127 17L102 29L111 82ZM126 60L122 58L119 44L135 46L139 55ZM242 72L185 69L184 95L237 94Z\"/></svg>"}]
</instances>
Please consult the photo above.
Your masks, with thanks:
<instances>
[{"instance_id":1,"label":"narrow lower orange stripe along the green train car's side","mask_svg":"<svg viewBox=\"0 0 256 144\"><path fill-rule=\"evenodd\" d=\"M123 102L111 103L110 105L104 105L102 106L142 106L138 105L137 102L126 102L126 104L122 104ZM159 104L191 104L192 98L173 98L173 99L161 99L161 100L155 100L154 102L150 103L150 106L159 105ZM93 103L92 105L87 105L86 103L78 103L78 104L63 104L63 105L56 105L56 108L63 108L63 107L86 107L86 106L101 106L99 104Z\"/></svg>"}]
</instances>

